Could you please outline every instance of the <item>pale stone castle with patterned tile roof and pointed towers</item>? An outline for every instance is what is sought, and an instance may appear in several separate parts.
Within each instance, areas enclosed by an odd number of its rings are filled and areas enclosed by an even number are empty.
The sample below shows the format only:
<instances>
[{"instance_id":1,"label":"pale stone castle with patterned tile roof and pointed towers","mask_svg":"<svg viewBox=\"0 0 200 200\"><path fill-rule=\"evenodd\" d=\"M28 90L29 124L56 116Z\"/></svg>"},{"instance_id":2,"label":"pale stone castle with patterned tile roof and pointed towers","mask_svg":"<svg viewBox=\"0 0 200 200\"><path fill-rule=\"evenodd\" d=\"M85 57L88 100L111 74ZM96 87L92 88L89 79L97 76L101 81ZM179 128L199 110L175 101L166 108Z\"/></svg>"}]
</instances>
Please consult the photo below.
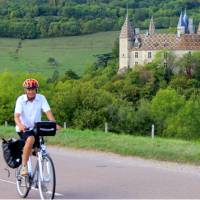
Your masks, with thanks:
<instances>
[{"instance_id":1,"label":"pale stone castle with patterned tile roof and pointed towers","mask_svg":"<svg viewBox=\"0 0 200 200\"><path fill-rule=\"evenodd\" d=\"M131 26L127 13L119 36L118 72L122 73L135 65L151 62L161 50L172 51L177 57L200 51L200 23L195 32L193 19L188 18L185 10L184 14L180 14L176 34L156 33L153 17L147 33L140 34L138 28Z\"/></svg>"}]
</instances>

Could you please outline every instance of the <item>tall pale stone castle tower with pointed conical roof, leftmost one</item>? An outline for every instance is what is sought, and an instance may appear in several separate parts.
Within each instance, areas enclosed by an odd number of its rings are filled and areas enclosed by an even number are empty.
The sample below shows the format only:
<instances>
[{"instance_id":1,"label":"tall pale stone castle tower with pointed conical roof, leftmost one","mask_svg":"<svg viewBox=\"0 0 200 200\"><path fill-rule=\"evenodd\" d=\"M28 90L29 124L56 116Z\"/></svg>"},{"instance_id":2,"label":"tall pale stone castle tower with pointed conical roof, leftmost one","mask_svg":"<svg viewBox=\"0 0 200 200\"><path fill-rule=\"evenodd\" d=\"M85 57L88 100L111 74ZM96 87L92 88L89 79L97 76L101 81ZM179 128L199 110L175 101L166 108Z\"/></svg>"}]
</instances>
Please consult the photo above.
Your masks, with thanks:
<instances>
[{"instance_id":1,"label":"tall pale stone castle tower with pointed conical roof, leftmost one","mask_svg":"<svg viewBox=\"0 0 200 200\"><path fill-rule=\"evenodd\" d=\"M129 51L132 46L134 32L128 19L128 12L119 36L119 72L126 71L129 65Z\"/></svg>"}]
</instances>

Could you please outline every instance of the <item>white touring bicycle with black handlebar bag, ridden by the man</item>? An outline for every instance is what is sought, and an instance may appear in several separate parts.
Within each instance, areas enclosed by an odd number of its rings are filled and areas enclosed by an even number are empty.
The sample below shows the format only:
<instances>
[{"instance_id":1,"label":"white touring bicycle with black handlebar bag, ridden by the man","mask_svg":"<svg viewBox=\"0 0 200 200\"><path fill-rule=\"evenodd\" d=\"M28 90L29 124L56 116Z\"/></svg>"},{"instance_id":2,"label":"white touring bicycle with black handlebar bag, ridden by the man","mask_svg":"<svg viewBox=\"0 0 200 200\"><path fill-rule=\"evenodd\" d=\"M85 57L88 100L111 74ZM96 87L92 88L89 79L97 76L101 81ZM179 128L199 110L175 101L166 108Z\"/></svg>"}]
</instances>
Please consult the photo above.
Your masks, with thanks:
<instances>
[{"instance_id":1,"label":"white touring bicycle with black handlebar bag, ridden by the man","mask_svg":"<svg viewBox=\"0 0 200 200\"><path fill-rule=\"evenodd\" d=\"M39 136L39 149L36 152L36 165L33 170L32 156L28 160L28 176L21 176L19 166L16 169L17 192L20 197L26 198L31 188L39 188L41 199L53 199L56 189L56 175L53 161L47 153L44 136L53 136L56 133L56 123L38 122L34 128Z\"/></svg>"}]
</instances>

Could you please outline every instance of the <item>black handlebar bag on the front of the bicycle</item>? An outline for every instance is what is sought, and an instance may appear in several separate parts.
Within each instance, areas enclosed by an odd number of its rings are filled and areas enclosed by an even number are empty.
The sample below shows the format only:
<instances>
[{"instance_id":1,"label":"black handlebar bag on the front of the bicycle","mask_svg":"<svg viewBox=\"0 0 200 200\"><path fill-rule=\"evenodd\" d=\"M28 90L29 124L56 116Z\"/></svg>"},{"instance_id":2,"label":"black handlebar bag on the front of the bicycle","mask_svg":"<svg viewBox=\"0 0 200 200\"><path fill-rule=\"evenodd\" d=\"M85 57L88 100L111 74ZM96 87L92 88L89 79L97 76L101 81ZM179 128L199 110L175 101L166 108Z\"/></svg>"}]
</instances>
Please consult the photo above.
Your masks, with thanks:
<instances>
[{"instance_id":1,"label":"black handlebar bag on the front of the bicycle","mask_svg":"<svg viewBox=\"0 0 200 200\"><path fill-rule=\"evenodd\" d=\"M54 136L56 134L56 122L42 121L35 123L35 133L38 136Z\"/></svg>"}]
</instances>

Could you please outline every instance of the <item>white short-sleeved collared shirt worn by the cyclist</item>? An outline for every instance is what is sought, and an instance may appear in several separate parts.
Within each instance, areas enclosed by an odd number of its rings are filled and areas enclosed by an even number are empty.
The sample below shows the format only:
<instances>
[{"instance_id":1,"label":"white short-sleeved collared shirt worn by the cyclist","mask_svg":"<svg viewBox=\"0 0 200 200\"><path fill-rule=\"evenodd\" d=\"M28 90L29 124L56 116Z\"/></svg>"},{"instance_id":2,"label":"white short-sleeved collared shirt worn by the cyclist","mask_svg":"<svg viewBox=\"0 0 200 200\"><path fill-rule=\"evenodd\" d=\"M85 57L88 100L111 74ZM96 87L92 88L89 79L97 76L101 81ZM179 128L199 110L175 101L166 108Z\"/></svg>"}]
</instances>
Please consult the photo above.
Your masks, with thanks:
<instances>
[{"instance_id":1,"label":"white short-sleeved collared shirt worn by the cyclist","mask_svg":"<svg viewBox=\"0 0 200 200\"><path fill-rule=\"evenodd\" d=\"M41 121L42 112L50 110L50 106L41 94L36 94L33 101L28 101L27 95L23 94L17 98L15 105L15 113L20 114L20 120L26 128L33 129L35 122ZM16 126L19 132L19 127Z\"/></svg>"}]
</instances>

